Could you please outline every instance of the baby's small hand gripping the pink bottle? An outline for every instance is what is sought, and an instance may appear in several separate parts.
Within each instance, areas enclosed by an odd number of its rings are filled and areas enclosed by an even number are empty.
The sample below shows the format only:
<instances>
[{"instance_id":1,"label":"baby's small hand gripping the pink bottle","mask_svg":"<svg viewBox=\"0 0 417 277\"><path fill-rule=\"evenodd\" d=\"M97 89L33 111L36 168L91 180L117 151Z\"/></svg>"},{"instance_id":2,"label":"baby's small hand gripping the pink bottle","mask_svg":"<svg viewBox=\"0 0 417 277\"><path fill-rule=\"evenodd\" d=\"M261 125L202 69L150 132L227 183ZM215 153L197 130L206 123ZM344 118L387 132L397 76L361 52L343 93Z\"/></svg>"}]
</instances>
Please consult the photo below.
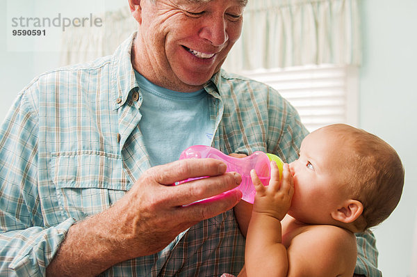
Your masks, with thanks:
<instances>
[{"instance_id":1,"label":"baby's small hand gripping the pink bottle","mask_svg":"<svg viewBox=\"0 0 417 277\"><path fill-rule=\"evenodd\" d=\"M254 169L250 172L256 189L254 212L268 214L279 221L284 219L291 206L294 194L293 175L288 164L284 164L282 180L279 182L279 169L275 161L271 161L271 178L269 186L263 186Z\"/></svg>"}]
</instances>

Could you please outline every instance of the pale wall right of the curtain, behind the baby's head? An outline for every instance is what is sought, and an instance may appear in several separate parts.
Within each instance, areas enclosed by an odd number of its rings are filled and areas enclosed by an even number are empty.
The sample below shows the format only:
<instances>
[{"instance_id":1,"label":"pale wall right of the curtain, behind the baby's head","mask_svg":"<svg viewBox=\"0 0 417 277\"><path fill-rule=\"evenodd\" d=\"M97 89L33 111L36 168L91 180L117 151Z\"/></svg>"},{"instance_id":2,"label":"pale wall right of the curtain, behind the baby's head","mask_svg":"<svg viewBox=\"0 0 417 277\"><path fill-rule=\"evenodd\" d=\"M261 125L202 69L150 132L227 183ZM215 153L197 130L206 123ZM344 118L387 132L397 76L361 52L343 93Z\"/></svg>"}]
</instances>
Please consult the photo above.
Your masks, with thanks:
<instances>
[{"instance_id":1,"label":"pale wall right of the curtain, behind the baby's head","mask_svg":"<svg viewBox=\"0 0 417 277\"><path fill-rule=\"evenodd\" d=\"M405 277L417 207L417 1L361 3L360 126L390 143L405 168L400 204L375 230L379 268L384 276Z\"/></svg>"}]
</instances>

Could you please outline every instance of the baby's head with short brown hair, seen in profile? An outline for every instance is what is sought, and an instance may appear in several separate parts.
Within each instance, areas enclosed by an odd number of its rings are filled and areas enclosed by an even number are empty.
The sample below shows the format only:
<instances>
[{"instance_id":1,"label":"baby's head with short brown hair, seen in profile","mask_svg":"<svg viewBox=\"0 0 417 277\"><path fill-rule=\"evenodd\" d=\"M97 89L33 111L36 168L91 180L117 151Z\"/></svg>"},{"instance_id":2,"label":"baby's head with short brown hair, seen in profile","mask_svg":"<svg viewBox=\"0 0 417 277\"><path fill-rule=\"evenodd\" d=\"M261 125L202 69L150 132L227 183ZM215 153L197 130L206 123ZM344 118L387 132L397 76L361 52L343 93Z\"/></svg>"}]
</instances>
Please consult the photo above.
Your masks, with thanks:
<instances>
[{"instance_id":1,"label":"baby's head with short brown hair, seen in profile","mask_svg":"<svg viewBox=\"0 0 417 277\"><path fill-rule=\"evenodd\" d=\"M295 193L289 214L306 223L330 221L354 232L384 221L398 205L404 184L400 157L388 143L343 124L309 134L291 171ZM313 197L317 203L303 208L302 201ZM303 216L302 210L311 207Z\"/></svg>"}]
</instances>

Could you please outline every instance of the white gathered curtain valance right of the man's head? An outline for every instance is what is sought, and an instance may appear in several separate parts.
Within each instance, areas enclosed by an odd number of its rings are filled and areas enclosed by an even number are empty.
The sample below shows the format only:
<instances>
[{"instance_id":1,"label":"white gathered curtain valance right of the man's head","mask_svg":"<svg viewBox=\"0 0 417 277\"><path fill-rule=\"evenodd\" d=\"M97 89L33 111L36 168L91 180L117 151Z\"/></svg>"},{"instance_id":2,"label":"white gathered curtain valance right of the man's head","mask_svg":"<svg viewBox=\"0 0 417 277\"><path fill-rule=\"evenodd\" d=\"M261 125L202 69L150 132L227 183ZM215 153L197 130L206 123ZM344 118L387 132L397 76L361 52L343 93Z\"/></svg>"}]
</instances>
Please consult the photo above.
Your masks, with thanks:
<instances>
[{"instance_id":1,"label":"white gathered curtain valance right of the man's head","mask_svg":"<svg viewBox=\"0 0 417 277\"><path fill-rule=\"evenodd\" d=\"M230 71L360 65L359 0L249 0Z\"/></svg>"}]
</instances>

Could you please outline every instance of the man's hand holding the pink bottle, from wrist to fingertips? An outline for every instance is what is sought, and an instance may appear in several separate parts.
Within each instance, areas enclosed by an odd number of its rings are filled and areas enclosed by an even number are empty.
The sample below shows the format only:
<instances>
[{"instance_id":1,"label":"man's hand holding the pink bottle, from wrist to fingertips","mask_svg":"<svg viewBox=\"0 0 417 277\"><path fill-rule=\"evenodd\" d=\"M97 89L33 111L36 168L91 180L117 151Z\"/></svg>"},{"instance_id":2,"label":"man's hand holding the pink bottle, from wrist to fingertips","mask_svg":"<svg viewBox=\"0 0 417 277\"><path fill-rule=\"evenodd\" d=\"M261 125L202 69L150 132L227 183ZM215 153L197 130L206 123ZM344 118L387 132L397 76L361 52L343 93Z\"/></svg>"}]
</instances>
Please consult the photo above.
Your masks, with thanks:
<instances>
[{"instance_id":1,"label":"man's hand holding the pink bottle, from wrist to fingertips","mask_svg":"<svg viewBox=\"0 0 417 277\"><path fill-rule=\"evenodd\" d=\"M172 186L203 176L211 177ZM240 182L240 175L226 173L226 165L215 159L183 159L146 171L114 207L126 239L135 245L132 258L161 251L180 232L234 207L242 195L229 190ZM205 198L210 199L195 203Z\"/></svg>"}]
</instances>

